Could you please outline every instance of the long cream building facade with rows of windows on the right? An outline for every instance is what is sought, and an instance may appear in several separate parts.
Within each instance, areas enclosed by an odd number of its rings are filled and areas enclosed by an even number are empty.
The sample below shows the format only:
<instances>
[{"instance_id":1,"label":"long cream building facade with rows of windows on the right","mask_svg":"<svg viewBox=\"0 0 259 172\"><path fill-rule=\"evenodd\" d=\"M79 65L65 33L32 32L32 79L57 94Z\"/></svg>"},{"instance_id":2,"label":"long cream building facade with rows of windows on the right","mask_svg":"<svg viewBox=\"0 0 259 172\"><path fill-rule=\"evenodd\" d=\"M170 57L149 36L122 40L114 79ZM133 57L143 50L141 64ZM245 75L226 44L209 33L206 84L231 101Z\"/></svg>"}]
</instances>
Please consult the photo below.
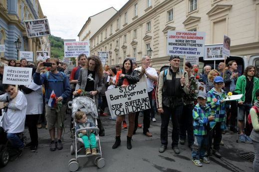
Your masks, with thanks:
<instances>
[{"instance_id":1,"label":"long cream building facade with rows of windows on the right","mask_svg":"<svg viewBox=\"0 0 259 172\"><path fill-rule=\"evenodd\" d=\"M153 50L155 68L168 64L167 32L206 32L206 44L231 38L231 55L259 55L259 0L129 0L91 38L91 54L109 51L107 64Z\"/></svg>"}]
</instances>

